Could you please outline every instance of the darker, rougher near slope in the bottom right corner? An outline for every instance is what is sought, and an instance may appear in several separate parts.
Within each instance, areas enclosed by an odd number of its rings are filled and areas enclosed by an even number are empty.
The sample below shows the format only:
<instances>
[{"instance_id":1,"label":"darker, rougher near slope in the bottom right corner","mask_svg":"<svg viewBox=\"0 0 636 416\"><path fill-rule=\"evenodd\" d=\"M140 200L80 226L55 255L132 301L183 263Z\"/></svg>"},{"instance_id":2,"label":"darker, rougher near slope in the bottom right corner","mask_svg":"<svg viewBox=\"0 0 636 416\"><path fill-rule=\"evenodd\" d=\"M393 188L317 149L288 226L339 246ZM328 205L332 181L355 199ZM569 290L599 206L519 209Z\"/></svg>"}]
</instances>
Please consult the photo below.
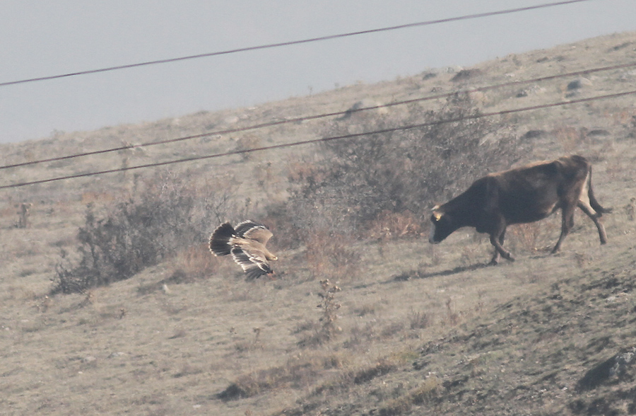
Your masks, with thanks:
<instances>
[{"instance_id":1,"label":"darker, rougher near slope in the bottom right corner","mask_svg":"<svg viewBox=\"0 0 636 416\"><path fill-rule=\"evenodd\" d=\"M635 254L515 296L426 343L416 359L281 414L634 414Z\"/></svg>"}]
</instances>

